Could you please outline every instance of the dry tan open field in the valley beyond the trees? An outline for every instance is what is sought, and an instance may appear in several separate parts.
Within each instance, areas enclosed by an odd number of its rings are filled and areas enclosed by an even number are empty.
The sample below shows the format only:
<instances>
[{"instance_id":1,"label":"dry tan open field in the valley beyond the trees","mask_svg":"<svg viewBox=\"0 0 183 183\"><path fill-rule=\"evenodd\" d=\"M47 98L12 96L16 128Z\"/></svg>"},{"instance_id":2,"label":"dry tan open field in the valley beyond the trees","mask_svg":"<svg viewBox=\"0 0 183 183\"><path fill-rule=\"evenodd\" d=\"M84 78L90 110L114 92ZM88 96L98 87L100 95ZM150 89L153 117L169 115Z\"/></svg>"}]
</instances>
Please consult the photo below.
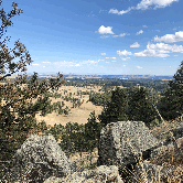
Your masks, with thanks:
<instances>
[{"instance_id":1,"label":"dry tan open field in the valley beyond the trees","mask_svg":"<svg viewBox=\"0 0 183 183\"><path fill-rule=\"evenodd\" d=\"M25 87L25 85L21 86L21 89ZM90 101L88 101L89 99L89 95L77 95L77 92L90 92L94 90L96 93L103 93L103 92L98 92L99 89L101 89L100 86L98 87L74 87L74 86L62 86L60 87L60 89L56 92L57 94L62 94L62 96L69 96L69 93L72 93L72 97L74 98L78 98L83 101L83 104L79 107L73 108L73 103L71 100L66 101L63 100L62 98L54 98L51 97L51 100L53 103L57 103L57 101L64 101L65 106L64 108L67 106L71 111L68 112L68 115L58 115L58 112L53 111L52 114L47 114L45 117L40 116L41 112L35 115L35 118L37 120L37 122L41 122L42 120L44 120L46 122L46 125L50 126L54 126L55 123L58 125L63 125L65 126L67 122L77 122L77 123L86 123L87 119L89 118L89 115L92 111L95 110L96 116L101 114L103 107L101 106L95 106L93 105ZM64 94L65 90L65 94ZM50 90L50 93L52 93ZM75 93L75 94L74 94ZM36 99L32 99L32 103L35 103ZM2 105L4 104L4 100L2 100Z\"/></svg>"}]
</instances>

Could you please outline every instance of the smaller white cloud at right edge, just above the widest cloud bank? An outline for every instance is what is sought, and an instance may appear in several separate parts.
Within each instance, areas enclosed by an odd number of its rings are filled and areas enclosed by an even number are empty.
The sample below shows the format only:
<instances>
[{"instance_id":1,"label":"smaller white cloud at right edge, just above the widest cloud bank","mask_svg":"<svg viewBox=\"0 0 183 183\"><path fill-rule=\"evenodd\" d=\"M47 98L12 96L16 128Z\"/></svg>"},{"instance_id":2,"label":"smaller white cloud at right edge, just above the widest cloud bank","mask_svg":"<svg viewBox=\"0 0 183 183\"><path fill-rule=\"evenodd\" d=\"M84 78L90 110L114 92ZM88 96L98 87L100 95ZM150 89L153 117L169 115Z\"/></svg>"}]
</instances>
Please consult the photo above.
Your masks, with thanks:
<instances>
[{"instance_id":1,"label":"smaller white cloud at right edge, just above the widest cloud bank","mask_svg":"<svg viewBox=\"0 0 183 183\"><path fill-rule=\"evenodd\" d=\"M155 42L165 42L165 43L174 43L179 41L183 41L183 31L175 32L175 34L165 34L163 36L154 36Z\"/></svg>"}]
</instances>

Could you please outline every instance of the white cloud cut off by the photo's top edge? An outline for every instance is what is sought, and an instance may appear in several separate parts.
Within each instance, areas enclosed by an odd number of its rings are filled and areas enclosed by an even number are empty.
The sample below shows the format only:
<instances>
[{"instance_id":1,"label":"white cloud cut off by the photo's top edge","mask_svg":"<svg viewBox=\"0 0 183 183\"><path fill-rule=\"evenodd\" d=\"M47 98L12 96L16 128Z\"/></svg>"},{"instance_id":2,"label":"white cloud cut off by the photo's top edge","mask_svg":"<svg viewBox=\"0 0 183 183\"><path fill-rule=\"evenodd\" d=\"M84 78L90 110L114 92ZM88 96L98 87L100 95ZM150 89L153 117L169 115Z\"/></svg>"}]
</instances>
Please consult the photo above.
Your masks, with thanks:
<instances>
[{"instance_id":1,"label":"white cloud cut off by the photo's top edge","mask_svg":"<svg viewBox=\"0 0 183 183\"><path fill-rule=\"evenodd\" d=\"M179 1L179 0L142 0L140 3L137 4L136 9L137 10L147 10L151 6L154 6L154 9L165 8L175 1Z\"/></svg>"}]
</instances>

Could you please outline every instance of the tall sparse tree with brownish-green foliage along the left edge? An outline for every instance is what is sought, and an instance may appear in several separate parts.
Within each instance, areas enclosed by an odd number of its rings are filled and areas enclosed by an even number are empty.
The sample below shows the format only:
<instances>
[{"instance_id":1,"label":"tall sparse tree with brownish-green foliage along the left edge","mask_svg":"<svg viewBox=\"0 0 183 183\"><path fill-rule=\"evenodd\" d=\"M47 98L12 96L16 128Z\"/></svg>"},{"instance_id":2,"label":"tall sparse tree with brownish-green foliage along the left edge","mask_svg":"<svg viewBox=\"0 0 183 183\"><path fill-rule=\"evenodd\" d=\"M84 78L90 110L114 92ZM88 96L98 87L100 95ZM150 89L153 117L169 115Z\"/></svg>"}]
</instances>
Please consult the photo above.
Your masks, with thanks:
<instances>
[{"instance_id":1,"label":"tall sparse tree with brownish-green foliage along the left edge","mask_svg":"<svg viewBox=\"0 0 183 183\"><path fill-rule=\"evenodd\" d=\"M0 6L1 3L2 1L0 1ZM7 32L6 29L12 25L10 19L22 13L22 10L18 8L18 3L12 2L12 7L13 10L8 14L3 9L0 10L2 21L0 29L0 74L3 75L0 80L4 80L17 72L25 72L26 65L33 62L21 42L17 41L15 47L9 51L6 43L10 39L7 36L2 40ZM13 62L15 57L20 58L18 63ZM49 99L49 90L57 90L64 83L62 78L63 75L58 73L56 79L51 78L49 83L44 79L39 83L37 75L34 73L29 82L26 75L19 75L12 84L0 85L0 161L11 160L17 149L21 147L30 133L37 132L35 114L41 111L41 115L45 116L52 112L53 105ZM26 84L23 89L20 88L21 84ZM37 100L33 104L32 99Z\"/></svg>"}]
</instances>

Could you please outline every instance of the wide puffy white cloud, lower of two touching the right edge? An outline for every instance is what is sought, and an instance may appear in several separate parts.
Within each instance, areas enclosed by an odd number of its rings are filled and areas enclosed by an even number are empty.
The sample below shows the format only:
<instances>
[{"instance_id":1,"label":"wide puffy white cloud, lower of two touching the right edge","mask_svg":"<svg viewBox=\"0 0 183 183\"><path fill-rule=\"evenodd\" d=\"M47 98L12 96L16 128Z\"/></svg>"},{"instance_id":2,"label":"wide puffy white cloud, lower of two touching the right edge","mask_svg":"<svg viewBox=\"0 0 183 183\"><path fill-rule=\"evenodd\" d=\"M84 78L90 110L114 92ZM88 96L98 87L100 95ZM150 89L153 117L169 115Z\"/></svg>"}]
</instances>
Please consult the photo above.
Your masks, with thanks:
<instances>
[{"instance_id":1,"label":"wide puffy white cloud, lower of two touching the right edge","mask_svg":"<svg viewBox=\"0 0 183 183\"><path fill-rule=\"evenodd\" d=\"M168 57L168 53L183 53L182 45L170 45L164 43L150 44L148 43L147 50L134 53L136 56L154 56L154 57Z\"/></svg>"}]
</instances>

